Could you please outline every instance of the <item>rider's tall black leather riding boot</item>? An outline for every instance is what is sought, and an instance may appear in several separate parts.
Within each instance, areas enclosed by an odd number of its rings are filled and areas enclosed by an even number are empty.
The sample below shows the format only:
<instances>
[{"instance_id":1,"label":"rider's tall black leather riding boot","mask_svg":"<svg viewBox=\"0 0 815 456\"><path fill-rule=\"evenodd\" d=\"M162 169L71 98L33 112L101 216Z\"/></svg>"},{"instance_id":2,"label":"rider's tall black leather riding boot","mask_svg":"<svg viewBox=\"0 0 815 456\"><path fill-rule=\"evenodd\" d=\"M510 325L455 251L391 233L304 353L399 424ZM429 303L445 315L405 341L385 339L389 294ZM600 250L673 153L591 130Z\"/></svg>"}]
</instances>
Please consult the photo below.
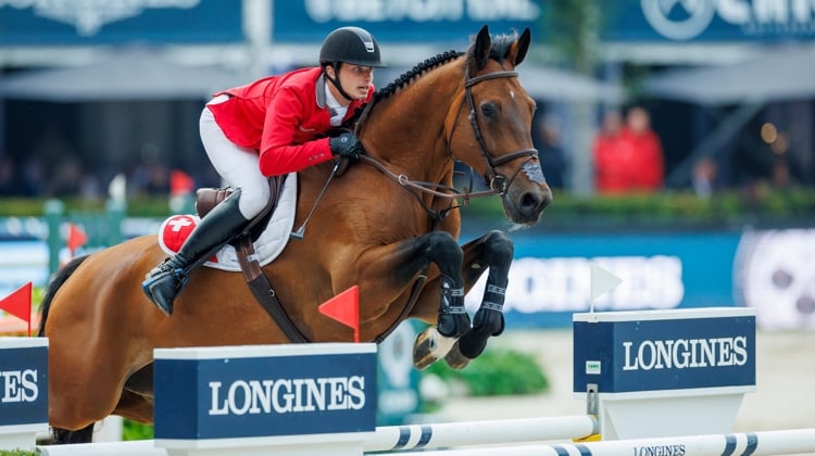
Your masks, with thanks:
<instances>
[{"instance_id":1,"label":"rider's tall black leather riding boot","mask_svg":"<svg viewBox=\"0 0 815 456\"><path fill-rule=\"evenodd\" d=\"M173 315L173 300L187 284L192 269L204 264L249 223L238 210L239 199L237 189L218 203L192 230L181 250L153 268L141 283L147 296L167 316Z\"/></svg>"}]
</instances>

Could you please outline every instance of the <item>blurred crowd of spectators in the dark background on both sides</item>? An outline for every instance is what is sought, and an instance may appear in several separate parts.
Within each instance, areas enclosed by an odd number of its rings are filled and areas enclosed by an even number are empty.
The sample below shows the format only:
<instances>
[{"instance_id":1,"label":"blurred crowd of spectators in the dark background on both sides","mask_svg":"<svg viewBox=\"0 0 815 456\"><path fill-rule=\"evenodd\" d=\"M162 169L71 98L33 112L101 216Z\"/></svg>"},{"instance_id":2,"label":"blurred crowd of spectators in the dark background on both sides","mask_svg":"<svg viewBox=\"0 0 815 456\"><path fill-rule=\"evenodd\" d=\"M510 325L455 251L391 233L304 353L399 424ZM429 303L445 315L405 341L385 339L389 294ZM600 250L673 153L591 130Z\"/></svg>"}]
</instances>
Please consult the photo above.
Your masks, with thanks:
<instances>
[{"instance_id":1,"label":"blurred crowd of spectators in the dark background on both sides","mask_svg":"<svg viewBox=\"0 0 815 456\"><path fill-rule=\"evenodd\" d=\"M568 191L575 151L564 141L563 118L544 110L536 116L532 140L539 151L549 186ZM762 135L764 129L762 127ZM780 134L769 131L766 136ZM775 138L775 137L774 137ZM781 138L783 139L783 138ZM801 182L801 168L790 154L779 153L780 139L767 140L762 148L736 148L722 156L692 160L684 188L700 198L710 198L720 188L749 188L755 182L785 188ZM640 104L607 109L597 119L590 142L592 188L598 194L655 193L666 188L670 170L663 139L651 125L651 113ZM755 150L760 152L755 152ZM752 152L750 152L752 150ZM785 152L785 150L780 150ZM92 160L77 154L65 136L51 132L32 143L26 153L0 151L0 195L8 197L79 197L104 199L108 185L116 175L124 175L127 194L166 195L178 176L192 188L217 187L217 175L206 161L203 149L187 151L186 165L168 163L167 154L136 153L124 165ZM196 157L199 157L198 164ZM724 170L727 170L725 176ZM175 176L175 179L173 178Z\"/></svg>"}]
</instances>

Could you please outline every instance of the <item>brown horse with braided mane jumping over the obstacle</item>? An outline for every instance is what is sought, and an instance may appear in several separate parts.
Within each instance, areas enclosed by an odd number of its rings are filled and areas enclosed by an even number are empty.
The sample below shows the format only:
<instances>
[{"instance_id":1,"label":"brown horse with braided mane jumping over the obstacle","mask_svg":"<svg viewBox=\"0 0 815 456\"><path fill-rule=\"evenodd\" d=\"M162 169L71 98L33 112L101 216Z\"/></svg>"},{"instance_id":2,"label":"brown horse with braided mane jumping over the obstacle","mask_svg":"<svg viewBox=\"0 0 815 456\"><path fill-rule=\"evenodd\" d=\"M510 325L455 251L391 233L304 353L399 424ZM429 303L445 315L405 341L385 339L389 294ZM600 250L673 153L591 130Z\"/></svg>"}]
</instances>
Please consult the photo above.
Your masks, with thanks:
<instances>
[{"instance_id":1,"label":"brown horse with braided mane jumping over the obstacle","mask_svg":"<svg viewBox=\"0 0 815 456\"><path fill-rule=\"evenodd\" d=\"M442 358L462 368L503 331L512 239L491 230L460 245L457 207L496 194L523 227L552 201L530 135L535 101L515 71L530 41L528 28L492 36L485 25L465 52L430 58L376 92L353 125L360 163L333 181L330 162L298 174L294 221L310 218L309 230L262 271L305 340L352 341L351 328L318 306L353 286L361 341L379 342L408 318L428 325L414 345L418 369ZM456 161L484 177L486 190L456 190ZM165 316L140 287L164 257L156 236L141 236L52 277L40 334L50 345L55 443L90 441L109 415L151 423L153 349L291 342L237 273L199 268ZM471 317L464 294L485 273Z\"/></svg>"}]
</instances>

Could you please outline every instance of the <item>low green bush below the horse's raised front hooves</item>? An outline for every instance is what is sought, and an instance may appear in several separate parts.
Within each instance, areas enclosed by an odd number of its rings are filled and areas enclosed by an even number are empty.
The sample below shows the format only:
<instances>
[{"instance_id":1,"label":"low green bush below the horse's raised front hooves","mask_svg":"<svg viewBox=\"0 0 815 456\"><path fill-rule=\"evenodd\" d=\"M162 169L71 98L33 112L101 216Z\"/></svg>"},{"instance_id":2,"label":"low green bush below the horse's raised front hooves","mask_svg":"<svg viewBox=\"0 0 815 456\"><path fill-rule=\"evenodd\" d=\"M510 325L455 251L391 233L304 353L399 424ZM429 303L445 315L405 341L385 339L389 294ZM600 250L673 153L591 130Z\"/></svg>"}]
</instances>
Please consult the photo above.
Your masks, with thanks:
<instances>
[{"instance_id":1,"label":"low green bush below the horse's raised front hooves","mask_svg":"<svg viewBox=\"0 0 815 456\"><path fill-rule=\"evenodd\" d=\"M473 396L537 394L549 390L549 379L535 356L509 349L488 347L462 370L436 363L423 375L436 375L448 384L463 383Z\"/></svg>"}]
</instances>

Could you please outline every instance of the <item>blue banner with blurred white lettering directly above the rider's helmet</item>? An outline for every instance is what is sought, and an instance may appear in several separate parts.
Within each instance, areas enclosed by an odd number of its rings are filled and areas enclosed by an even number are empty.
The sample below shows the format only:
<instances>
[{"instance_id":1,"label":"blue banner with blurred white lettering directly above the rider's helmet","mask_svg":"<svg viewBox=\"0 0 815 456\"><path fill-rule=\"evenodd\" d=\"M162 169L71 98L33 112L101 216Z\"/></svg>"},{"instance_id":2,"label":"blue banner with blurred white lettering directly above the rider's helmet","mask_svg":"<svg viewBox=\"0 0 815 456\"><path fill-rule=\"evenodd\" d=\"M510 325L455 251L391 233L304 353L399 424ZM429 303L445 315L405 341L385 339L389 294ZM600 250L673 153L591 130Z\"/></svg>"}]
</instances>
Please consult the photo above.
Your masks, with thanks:
<instances>
[{"instance_id":1,"label":"blue banner with blurred white lettering directly above the rider's helmet","mask_svg":"<svg viewBox=\"0 0 815 456\"><path fill-rule=\"evenodd\" d=\"M366 28L380 42L468 43L488 24L492 33L537 27L539 0L304 0L275 1L273 40L321 42L336 27Z\"/></svg>"}]
</instances>

